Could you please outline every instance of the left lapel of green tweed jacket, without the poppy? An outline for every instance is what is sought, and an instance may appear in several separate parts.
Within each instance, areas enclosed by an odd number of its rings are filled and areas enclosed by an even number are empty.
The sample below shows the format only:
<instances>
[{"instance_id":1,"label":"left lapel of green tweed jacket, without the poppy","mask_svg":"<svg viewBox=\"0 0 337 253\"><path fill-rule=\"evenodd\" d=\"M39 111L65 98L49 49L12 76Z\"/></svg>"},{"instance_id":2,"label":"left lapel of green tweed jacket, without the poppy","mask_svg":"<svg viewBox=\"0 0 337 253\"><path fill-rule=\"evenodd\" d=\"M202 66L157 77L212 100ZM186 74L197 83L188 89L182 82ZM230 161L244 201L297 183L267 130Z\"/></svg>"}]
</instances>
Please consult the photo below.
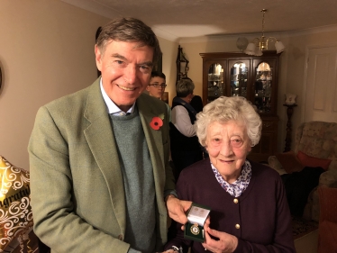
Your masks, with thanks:
<instances>
[{"instance_id":1,"label":"left lapel of green tweed jacket, without the poppy","mask_svg":"<svg viewBox=\"0 0 337 253\"><path fill-rule=\"evenodd\" d=\"M84 131L88 146L93 153L98 167L105 177L114 213L121 230L125 231L125 199L123 175L119 164L109 115L100 91L99 78L90 87L87 108L84 117L91 124Z\"/></svg>"}]
</instances>

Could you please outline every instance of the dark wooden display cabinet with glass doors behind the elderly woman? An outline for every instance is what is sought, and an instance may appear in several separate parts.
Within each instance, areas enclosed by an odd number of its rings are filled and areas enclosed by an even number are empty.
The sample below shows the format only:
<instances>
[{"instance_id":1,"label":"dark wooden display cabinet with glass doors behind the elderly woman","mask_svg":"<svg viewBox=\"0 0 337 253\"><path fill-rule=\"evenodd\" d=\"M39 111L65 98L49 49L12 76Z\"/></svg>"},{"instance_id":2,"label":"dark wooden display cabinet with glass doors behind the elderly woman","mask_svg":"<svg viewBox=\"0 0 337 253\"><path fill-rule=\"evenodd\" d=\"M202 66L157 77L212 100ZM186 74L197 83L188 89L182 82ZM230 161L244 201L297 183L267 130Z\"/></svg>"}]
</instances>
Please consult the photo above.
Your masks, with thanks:
<instances>
[{"instance_id":1,"label":"dark wooden display cabinet with glass doors behind the elderly woman","mask_svg":"<svg viewBox=\"0 0 337 253\"><path fill-rule=\"evenodd\" d=\"M262 56L236 52L200 53L203 58L203 101L207 104L221 95L246 97L262 119L260 143L248 158L267 162L278 146L278 60L276 51Z\"/></svg>"}]
</instances>

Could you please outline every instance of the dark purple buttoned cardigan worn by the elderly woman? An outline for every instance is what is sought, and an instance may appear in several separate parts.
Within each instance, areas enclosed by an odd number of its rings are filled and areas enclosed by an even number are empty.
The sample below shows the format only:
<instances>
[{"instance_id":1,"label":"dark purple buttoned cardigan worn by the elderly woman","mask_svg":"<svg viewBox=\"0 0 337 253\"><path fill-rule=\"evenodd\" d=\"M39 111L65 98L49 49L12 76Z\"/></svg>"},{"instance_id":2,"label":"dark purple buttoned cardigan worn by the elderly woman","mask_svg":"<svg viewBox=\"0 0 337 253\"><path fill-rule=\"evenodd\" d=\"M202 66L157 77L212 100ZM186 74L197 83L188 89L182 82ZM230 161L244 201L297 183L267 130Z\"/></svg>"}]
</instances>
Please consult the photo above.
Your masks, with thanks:
<instances>
[{"instance_id":1,"label":"dark purple buttoned cardigan worn by the elderly woman","mask_svg":"<svg viewBox=\"0 0 337 253\"><path fill-rule=\"evenodd\" d=\"M206 158L181 172L178 198L210 207L210 227L239 239L234 252L296 252L281 177L270 167L250 164L250 185L240 197L235 198L223 190ZM234 203L234 199L238 202ZM235 228L236 224L240 229ZM194 253L205 253L200 242L184 239L180 227L178 224L175 238L168 241L165 249L175 245L191 247Z\"/></svg>"}]
</instances>

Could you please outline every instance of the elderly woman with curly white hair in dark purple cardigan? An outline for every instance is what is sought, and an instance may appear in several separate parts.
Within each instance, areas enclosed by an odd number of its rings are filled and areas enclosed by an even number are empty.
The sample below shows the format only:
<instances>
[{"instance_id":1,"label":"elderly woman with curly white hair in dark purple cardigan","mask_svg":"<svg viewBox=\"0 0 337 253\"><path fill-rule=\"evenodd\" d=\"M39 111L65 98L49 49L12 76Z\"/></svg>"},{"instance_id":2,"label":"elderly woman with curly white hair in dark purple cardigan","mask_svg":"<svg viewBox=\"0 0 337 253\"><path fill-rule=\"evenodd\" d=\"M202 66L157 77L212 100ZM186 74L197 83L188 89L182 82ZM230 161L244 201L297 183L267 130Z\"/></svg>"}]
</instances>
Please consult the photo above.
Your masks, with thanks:
<instances>
[{"instance_id":1,"label":"elderly woman with curly white hair in dark purple cardigan","mask_svg":"<svg viewBox=\"0 0 337 253\"><path fill-rule=\"evenodd\" d=\"M249 161L261 120L241 96L220 97L196 116L196 134L209 153L182 171L180 199L210 207L205 242L184 239L181 224L166 245L191 252L296 252L287 197L278 173Z\"/></svg>"}]
</instances>

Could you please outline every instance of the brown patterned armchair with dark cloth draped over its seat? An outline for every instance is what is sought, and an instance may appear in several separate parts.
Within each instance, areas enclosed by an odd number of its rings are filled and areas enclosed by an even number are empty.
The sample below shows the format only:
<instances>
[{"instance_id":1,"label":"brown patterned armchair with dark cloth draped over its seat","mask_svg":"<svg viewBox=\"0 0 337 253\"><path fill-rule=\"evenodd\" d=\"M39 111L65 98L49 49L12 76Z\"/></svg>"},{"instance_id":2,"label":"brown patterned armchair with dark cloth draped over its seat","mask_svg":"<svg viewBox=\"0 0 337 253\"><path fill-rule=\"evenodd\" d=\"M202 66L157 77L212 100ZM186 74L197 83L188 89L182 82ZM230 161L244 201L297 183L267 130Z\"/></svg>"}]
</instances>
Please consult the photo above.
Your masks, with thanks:
<instances>
[{"instance_id":1,"label":"brown patterned armchair with dark cloth draped over its seat","mask_svg":"<svg viewBox=\"0 0 337 253\"><path fill-rule=\"evenodd\" d=\"M295 150L292 152L303 167L318 167L317 164L322 164L320 167L325 171L319 177L318 186L337 187L337 122L302 123L296 129ZM283 167L277 157L278 155L269 157L269 166L280 175L291 173L289 171L292 168ZM307 220L319 220L317 187L308 196L303 216Z\"/></svg>"}]
</instances>

